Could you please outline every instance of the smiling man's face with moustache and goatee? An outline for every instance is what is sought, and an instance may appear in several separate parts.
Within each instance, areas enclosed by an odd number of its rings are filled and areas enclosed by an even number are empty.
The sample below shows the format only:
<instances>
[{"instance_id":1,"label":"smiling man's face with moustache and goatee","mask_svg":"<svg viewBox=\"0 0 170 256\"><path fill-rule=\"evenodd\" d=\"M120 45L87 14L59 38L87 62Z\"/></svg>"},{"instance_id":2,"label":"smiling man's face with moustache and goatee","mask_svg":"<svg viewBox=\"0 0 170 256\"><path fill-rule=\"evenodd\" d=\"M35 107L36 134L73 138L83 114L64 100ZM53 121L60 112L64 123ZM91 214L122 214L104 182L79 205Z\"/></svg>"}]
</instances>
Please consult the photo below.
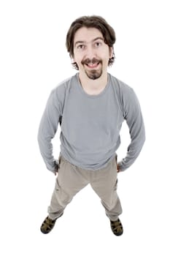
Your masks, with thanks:
<instances>
[{"instance_id":1,"label":"smiling man's face with moustache and goatee","mask_svg":"<svg viewBox=\"0 0 170 256\"><path fill-rule=\"evenodd\" d=\"M112 58L112 48L104 42L104 37L96 28L82 27L74 35L74 59L80 75L96 80L107 72L108 61Z\"/></svg>"}]
</instances>

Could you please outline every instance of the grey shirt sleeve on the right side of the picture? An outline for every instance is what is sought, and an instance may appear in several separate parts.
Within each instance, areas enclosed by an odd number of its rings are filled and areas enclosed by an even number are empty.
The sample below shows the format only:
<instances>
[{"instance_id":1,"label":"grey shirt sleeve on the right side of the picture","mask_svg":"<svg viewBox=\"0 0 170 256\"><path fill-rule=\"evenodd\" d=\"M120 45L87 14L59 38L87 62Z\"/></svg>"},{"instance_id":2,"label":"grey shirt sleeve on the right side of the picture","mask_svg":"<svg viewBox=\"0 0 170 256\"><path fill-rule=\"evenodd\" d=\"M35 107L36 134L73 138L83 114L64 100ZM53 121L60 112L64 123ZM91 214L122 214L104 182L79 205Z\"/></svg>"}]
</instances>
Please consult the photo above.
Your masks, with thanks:
<instances>
[{"instance_id":1,"label":"grey shirt sleeve on the right side of the picture","mask_svg":"<svg viewBox=\"0 0 170 256\"><path fill-rule=\"evenodd\" d=\"M118 162L120 171L130 167L139 156L145 141L144 121L139 100L133 89L123 93L123 116L128 124L131 143L128 146L127 154L122 161Z\"/></svg>"}]
</instances>

